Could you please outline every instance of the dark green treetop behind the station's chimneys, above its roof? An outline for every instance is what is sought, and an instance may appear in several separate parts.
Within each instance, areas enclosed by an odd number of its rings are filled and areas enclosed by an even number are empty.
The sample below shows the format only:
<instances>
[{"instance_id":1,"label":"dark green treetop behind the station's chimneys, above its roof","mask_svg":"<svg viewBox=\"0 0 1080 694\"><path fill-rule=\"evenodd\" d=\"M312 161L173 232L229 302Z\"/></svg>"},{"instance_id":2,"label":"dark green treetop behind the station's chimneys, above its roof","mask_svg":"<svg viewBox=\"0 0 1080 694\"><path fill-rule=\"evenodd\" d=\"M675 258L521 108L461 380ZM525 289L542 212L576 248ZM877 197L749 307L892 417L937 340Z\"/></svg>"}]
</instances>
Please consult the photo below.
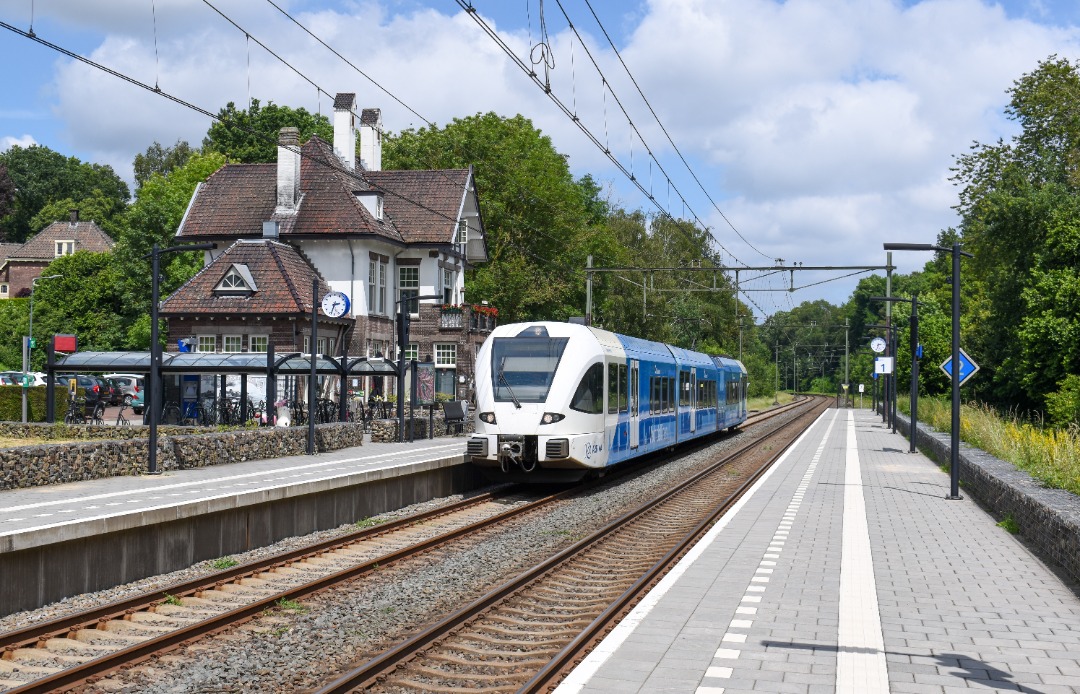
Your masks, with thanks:
<instances>
[{"instance_id":1,"label":"dark green treetop behind the station's chimneys, above its roof","mask_svg":"<svg viewBox=\"0 0 1080 694\"><path fill-rule=\"evenodd\" d=\"M325 115L273 101L261 106L258 99L252 99L247 109L238 109L229 101L217 112L217 118L203 139L203 152L225 154L245 164L276 162L278 133L283 127L298 128L301 142L312 135L334 141L334 127Z\"/></svg>"}]
</instances>

